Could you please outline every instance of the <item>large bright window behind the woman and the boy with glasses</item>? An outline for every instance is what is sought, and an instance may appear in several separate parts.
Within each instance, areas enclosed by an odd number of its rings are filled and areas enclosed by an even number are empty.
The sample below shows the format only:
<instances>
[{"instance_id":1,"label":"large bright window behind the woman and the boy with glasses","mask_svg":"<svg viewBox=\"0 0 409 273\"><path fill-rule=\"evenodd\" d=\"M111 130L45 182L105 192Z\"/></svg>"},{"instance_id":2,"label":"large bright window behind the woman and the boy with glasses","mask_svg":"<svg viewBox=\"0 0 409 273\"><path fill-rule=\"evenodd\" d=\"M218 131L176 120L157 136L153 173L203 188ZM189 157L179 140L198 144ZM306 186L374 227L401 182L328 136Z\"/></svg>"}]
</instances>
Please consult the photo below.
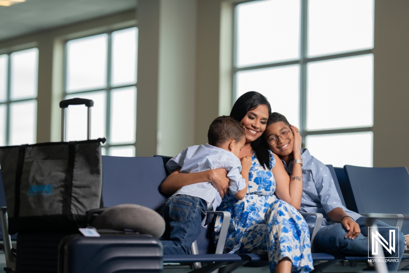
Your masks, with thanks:
<instances>
[{"instance_id":1,"label":"large bright window behind the woman and the boy with glasses","mask_svg":"<svg viewBox=\"0 0 409 273\"><path fill-rule=\"evenodd\" d=\"M326 164L372 166L373 26L373 0L238 4L235 99L265 95Z\"/></svg>"}]
</instances>

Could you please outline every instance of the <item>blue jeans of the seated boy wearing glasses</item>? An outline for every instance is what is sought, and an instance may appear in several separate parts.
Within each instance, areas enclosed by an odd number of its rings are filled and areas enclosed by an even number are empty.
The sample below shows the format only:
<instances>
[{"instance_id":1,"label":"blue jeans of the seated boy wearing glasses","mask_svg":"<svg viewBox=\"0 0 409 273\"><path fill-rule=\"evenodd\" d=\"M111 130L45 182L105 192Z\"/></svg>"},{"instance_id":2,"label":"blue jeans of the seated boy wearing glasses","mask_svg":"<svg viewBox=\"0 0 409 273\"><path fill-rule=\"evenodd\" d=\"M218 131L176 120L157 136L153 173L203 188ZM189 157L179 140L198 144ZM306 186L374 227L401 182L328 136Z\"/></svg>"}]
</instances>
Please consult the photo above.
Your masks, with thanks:
<instances>
[{"instance_id":1,"label":"blue jeans of the seated boy wearing glasses","mask_svg":"<svg viewBox=\"0 0 409 273\"><path fill-rule=\"evenodd\" d=\"M347 230L342 223L335 223L328 225L319 230L314 239L315 252L317 253L342 253L347 255L368 255L368 227L366 226L366 217L362 216L356 220L358 223L361 234L354 240L349 238L345 239ZM378 227L391 227L383 222L376 221ZM379 228L379 234L389 242L389 229ZM396 250L399 249L399 262L402 259L403 252L405 251L405 238L403 233L398 232L396 234L398 242L395 242ZM399 244L399 248L398 248ZM369 244L369 247L371 245ZM385 257L391 257L388 251L384 251ZM396 257L395 253L392 253L392 257ZM399 262L389 262L387 264L389 271L398 270Z\"/></svg>"}]
</instances>

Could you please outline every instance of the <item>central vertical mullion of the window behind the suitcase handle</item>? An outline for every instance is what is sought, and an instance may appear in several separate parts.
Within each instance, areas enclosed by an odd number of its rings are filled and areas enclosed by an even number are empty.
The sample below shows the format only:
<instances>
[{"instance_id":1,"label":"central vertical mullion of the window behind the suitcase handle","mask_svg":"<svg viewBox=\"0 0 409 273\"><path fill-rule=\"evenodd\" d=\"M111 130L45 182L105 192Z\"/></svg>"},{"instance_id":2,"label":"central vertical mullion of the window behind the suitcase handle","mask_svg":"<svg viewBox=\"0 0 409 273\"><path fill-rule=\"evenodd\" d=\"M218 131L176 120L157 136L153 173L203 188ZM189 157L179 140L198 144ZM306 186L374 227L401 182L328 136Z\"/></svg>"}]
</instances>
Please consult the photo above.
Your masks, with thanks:
<instances>
[{"instance_id":1,"label":"central vertical mullion of the window behind the suitcase handle","mask_svg":"<svg viewBox=\"0 0 409 273\"><path fill-rule=\"evenodd\" d=\"M110 144L110 132L111 132L111 75L112 75L112 33L108 33L108 46L107 46L107 60L106 60L106 118L105 118L105 136L106 144ZM109 155L109 146L106 147L107 155Z\"/></svg>"}]
</instances>

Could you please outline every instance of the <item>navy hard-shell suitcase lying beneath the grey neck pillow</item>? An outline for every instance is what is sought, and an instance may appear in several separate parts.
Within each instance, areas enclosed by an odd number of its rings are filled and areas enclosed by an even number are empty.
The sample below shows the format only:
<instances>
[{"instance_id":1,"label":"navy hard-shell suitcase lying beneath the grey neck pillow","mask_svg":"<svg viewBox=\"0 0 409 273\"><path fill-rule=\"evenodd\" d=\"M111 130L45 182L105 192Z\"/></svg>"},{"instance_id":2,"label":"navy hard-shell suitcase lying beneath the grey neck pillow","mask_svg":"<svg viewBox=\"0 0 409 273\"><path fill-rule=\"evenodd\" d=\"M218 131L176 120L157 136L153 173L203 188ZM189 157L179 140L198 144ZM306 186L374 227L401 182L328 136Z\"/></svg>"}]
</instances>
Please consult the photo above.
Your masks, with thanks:
<instances>
[{"instance_id":1,"label":"navy hard-shell suitcase lying beneath the grey neck pillow","mask_svg":"<svg viewBox=\"0 0 409 273\"><path fill-rule=\"evenodd\" d=\"M163 272L161 242L150 235L65 237L58 250L58 273Z\"/></svg>"}]
</instances>

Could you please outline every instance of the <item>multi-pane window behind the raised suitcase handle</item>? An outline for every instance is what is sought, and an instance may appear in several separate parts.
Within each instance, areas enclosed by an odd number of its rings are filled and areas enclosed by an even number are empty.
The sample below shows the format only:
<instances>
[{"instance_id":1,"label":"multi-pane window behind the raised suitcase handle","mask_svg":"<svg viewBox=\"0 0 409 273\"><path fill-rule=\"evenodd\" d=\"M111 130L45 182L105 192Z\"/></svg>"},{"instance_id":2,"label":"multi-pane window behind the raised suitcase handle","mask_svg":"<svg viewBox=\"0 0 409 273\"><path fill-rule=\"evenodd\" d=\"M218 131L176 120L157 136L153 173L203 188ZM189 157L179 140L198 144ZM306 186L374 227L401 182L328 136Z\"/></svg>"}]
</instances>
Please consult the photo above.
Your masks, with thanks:
<instances>
[{"instance_id":1,"label":"multi-pane window behind the raised suitcase handle","mask_svg":"<svg viewBox=\"0 0 409 273\"><path fill-rule=\"evenodd\" d=\"M94 100L91 137L111 156L135 156L137 39L129 28L66 43L65 98ZM86 139L86 107L68 108L66 138Z\"/></svg>"}]
</instances>

